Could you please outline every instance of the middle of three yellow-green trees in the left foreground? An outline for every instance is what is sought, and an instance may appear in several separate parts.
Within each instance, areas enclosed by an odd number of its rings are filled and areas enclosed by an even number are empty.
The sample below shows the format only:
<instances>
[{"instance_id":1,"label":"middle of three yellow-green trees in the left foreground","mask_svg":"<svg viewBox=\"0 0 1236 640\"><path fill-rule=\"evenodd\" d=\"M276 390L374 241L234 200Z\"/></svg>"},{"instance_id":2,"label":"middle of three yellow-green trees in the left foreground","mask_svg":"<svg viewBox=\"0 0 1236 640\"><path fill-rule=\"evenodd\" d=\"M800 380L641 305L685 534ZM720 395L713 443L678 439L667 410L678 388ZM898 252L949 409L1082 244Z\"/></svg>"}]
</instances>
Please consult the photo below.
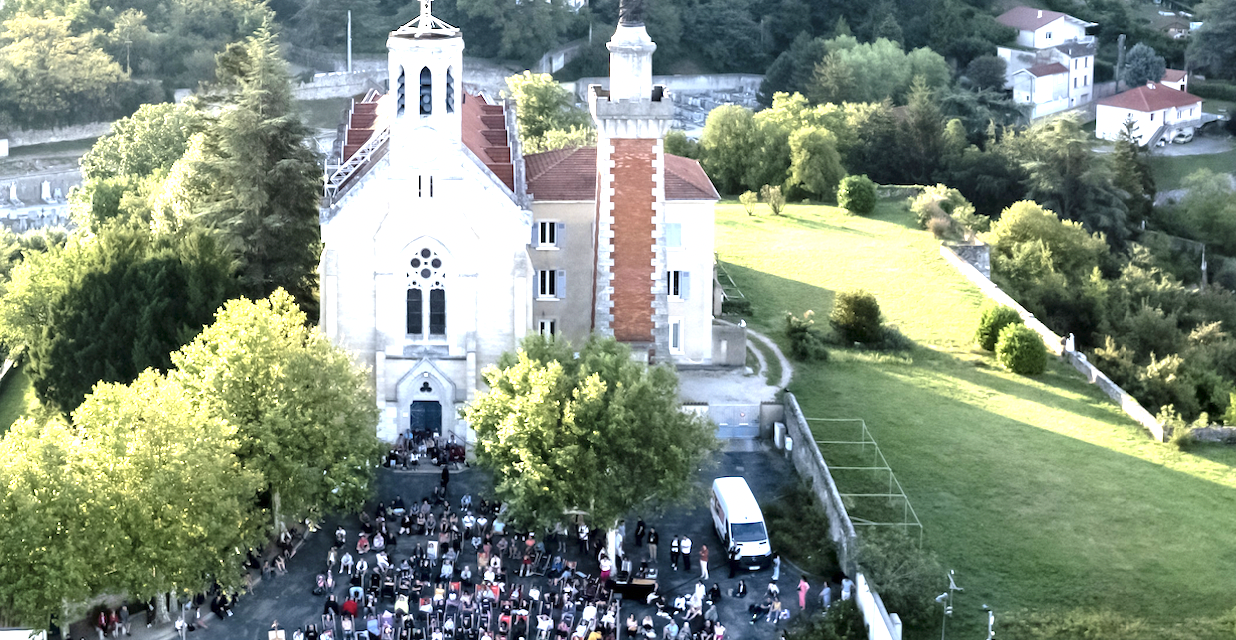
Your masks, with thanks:
<instances>
[{"instance_id":1,"label":"middle of three yellow-green trees in the left foreground","mask_svg":"<svg viewBox=\"0 0 1236 640\"><path fill-rule=\"evenodd\" d=\"M90 537L78 540L109 570L99 587L146 599L245 584L242 551L262 540L261 478L236 458L234 425L153 371L95 387L73 425L77 453L105 487L87 505Z\"/></svg>"}]
</instances>

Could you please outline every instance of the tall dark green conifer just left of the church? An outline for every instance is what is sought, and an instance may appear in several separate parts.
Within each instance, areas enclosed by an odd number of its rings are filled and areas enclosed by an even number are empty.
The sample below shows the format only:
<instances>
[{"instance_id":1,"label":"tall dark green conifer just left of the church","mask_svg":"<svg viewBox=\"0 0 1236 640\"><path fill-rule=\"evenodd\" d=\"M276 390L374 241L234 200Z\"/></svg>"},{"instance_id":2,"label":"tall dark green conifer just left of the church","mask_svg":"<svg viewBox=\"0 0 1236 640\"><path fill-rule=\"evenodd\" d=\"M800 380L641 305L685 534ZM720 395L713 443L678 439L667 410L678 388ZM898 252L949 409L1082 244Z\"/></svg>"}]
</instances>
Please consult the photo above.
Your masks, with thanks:
<instances>
[{"instance_id":1,"label":"tall dark green conifer just left of the church","mask_svg":"<svg viewBox=\"0 0 1236 640\"><path fill-rule=\"evenodd\" d=\"M321 168L269 26L229 47L219 68L230 91L193 167L193 214L224 232L242 292L265 298L283 288L316 309Z\"/></svg>"}]
</instances>

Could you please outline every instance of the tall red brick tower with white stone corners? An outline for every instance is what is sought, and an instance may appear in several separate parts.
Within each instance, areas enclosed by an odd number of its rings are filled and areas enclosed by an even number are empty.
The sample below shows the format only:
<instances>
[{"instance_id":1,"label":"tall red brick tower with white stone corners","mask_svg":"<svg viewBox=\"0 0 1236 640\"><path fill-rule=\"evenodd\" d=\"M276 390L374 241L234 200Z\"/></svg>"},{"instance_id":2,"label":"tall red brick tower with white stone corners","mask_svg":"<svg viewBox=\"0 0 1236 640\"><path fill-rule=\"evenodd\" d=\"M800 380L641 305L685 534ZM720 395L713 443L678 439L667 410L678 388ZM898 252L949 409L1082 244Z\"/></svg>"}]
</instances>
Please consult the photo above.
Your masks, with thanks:
<instances>
[{"instance_id":1,"label":"tall red brick tower with white stone corners","mask_svg":"<svg viewBox=\"0 0 1236 640\"><path fill-rule=\"evenodd\" d=\"M622 0L609 90L588 88L597 125L596 282L592 329L669 362L665 283L665 133L674 104L653 86L656 44L643 0Z\"/></svg>"}]
</instances>

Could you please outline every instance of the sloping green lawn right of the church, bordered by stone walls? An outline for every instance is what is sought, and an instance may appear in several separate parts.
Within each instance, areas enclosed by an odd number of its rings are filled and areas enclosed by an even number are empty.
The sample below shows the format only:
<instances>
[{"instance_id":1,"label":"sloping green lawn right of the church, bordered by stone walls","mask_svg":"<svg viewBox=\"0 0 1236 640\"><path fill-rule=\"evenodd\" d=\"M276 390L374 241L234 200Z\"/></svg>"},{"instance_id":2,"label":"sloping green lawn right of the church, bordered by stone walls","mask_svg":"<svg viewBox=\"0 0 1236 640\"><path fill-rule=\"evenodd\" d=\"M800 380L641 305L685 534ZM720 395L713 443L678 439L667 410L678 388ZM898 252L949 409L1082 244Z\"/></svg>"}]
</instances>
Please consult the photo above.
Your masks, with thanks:
<instances>
[{"instance_id":1,"label":"sloping green lawn right of the church, bordered by stone walls","mask_svg":"<svg viewBox=\"0 0 1236 640\"><path fill-rule=\"evenodd\" d=\"M800 363L790 388L808 416L866 420L925 545L965 587L952 636L978 636L981 604L1110 609L1156 625L1236 607L1236 450L1154 444L1058 363L1037 378L996 368L971 345L981 295L900 204L864 219L807 205L750 217L723 203L717 251L751 300L749 321L782 348L784 311L813 309L827 325L848 288L873 292L917 343L908 357L834 351Z\"/></svg>"}]
</instances>

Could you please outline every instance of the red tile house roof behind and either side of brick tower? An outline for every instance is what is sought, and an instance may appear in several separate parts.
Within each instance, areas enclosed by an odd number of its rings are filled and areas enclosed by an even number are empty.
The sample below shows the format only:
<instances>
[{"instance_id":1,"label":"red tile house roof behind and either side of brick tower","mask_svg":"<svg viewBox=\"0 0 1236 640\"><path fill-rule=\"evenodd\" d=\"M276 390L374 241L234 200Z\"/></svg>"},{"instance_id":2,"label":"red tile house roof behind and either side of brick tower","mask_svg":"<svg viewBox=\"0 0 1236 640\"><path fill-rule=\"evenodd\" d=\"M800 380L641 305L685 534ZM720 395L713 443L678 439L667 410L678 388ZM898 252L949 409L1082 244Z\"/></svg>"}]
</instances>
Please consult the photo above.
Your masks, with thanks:
<instances>
[{"instance_id":1,"label":"red tile house roof behind and either side of brick tower","mask_svg":"<svg viewBox=\"0 0 1236 640\"><path fill-rule=\"evenodd\" d=\"M578 147L524 156L528 192L534 200L596 200L597 149ZM700 163L665 154L666 200L718 200Z\"/></svg>"}]
</instances>

